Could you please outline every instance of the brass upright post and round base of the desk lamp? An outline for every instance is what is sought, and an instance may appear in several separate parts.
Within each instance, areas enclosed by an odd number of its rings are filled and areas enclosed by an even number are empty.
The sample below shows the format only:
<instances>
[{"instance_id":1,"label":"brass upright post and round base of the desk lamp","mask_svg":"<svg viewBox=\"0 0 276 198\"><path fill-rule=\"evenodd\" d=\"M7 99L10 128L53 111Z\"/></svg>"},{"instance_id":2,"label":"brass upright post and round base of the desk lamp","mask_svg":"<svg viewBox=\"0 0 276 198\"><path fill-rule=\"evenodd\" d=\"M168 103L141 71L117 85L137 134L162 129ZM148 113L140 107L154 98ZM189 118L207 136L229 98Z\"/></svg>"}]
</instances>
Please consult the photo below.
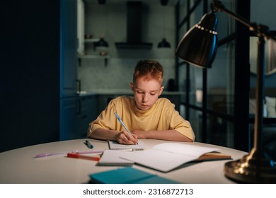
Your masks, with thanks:
<instances>
[{"instance_id":1,"label":"brass upright post and round base of the desk lamp","mask_svg":"<svg viewBox=\"0 0 276 198\"><path fill-rule=\"evenodd\" d=\"M258 62L256 82L256 104L254 146L248 155L240 160L231 161L225 164L224 173L226 177L243 183L276 183L276 164L263 151L263 95L265 78L265 32L268 27L265 25L255 26L258 31Z\"/></svg>"}]
</instances>

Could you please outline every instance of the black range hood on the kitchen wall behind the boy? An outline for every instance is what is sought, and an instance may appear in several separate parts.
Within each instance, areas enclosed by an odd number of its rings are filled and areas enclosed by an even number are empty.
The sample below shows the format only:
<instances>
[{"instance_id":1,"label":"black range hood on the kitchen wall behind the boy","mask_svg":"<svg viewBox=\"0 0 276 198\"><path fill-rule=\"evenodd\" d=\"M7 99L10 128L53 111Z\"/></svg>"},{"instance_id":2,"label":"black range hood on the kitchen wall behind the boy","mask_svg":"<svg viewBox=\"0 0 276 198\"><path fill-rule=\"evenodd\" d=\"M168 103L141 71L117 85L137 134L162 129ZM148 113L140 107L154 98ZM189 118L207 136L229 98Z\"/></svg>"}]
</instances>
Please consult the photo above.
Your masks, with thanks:
<instances>
[{"instance_id":1,"label":"black range hood on the kitchen wall behind the boy","mask_svg":"<svg viewBox=\"0 0 276 198\"><path fill-rule=\"evenodd\" d=\"M127 1L127 42L115 42L120 49L151 49L152 43L142 42L142 1Z\"/></svg>"}]
</instances>

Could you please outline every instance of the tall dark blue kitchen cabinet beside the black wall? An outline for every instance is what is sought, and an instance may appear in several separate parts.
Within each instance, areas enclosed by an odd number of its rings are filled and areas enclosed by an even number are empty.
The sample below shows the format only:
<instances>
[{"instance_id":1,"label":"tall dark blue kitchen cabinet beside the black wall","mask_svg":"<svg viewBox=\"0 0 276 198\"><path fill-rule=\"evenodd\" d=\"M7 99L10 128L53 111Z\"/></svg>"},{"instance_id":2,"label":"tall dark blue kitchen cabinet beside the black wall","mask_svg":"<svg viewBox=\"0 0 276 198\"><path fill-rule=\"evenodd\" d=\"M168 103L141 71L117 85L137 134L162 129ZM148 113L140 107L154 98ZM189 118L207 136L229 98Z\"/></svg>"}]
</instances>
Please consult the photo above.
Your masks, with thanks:
<instances>
[{"instance_id":1,"label":"tall dark blue kitchen cabinet beside the black wall","mask_svg":"<svg viewBox=\"0 0 276 198\"><path fill-rule=\"evenodd\" d=\"M59 140L80 138L77 113L81 82L77 80L77 1L60 1Z\"/></svg>"}]
</instances>

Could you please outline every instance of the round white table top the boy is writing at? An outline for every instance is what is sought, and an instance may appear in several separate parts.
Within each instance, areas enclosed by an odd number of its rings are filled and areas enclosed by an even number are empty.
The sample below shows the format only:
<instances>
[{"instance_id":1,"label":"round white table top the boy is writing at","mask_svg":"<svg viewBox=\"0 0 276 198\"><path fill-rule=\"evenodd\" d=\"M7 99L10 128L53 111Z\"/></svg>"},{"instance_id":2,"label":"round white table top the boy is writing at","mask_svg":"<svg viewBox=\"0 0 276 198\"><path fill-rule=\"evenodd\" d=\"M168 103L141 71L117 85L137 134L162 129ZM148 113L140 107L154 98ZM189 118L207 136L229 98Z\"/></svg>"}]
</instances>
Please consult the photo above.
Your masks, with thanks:
<instances>
[{"instance_id":1,"label":"round white table top the boy is writing at","mask_svg":"<svg viewBox=\"0 0 276 198\"><path fill-rule=\"evenodd\" d=\"M57 141L47 144L17 148L0 153L0 183L87 183L89 181L88 175L91 173L98 173L118 168L114 166L96 166L96 161L67 158L66 154L48 156L45 158L34 158L38 153L56 153L59 151L73 150L91 151L91 149L87 148L84 144L85 140L86 139ZM91 141L94 146L93 150L103 150L108 148L107 141L94 139L90 139L89 141ZM142 141L144 141L148 148L151 148L156 144L168 142L154 139L143 139ZM211 144L202 144L197 142L188 144L220 148L222 153L230 154L233 160L239 159L247 154L243 151ZM188 165L169 173L161 173L139 165L133 165L133 168L144 170L148 173L153 173L171 180L176 180L180 183L233 183L224 176L224 163L226 163L225 160L205 161Z\"/></svg>"}]
</instances>

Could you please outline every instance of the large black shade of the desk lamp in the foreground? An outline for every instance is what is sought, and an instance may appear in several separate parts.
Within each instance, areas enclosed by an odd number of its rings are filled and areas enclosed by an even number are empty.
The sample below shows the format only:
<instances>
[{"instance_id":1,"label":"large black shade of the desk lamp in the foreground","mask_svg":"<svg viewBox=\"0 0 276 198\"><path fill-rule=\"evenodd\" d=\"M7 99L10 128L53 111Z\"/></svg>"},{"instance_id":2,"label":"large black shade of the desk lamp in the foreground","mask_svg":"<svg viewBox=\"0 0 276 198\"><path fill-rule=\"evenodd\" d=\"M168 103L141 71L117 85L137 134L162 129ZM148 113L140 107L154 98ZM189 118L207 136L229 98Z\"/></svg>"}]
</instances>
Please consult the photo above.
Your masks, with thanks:
<instances>
[{"instance_id":1,"label":"large black shade of the desk lamp in the foreground","mask_svg":"<svg viewBox=\"0 0 276 198\"><path fill-rule=\"evenodd\" d=\"M217 16L205 14L200 23L193 26L181 39L176 56L189 64L211 67L217 52Z\"/></svg>"}]
</instances>

